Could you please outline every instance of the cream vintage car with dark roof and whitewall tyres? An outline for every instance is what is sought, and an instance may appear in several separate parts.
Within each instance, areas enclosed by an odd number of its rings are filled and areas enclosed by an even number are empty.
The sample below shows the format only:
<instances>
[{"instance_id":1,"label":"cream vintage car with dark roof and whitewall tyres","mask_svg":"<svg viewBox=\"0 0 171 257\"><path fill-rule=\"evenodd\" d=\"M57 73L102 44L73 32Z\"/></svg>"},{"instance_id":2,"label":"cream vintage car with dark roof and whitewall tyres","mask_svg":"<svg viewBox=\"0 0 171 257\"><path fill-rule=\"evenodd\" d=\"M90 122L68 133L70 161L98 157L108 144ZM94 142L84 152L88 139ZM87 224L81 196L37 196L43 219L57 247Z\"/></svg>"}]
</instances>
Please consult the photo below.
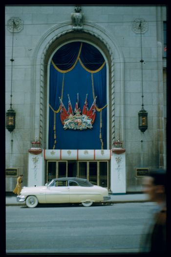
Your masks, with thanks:
<instances>
[{"instance_id":1,"label":"cream vintage car with dark roof and whitewall tyres","mask_svg":"<svg viewBox=\"0 0 171 257\"><path fill-rule=\"evenodd\" d=\"M93 202L110 199L106 188L92 185L87 179L77 177L55 178L45 186L23 187L18 202L34 208L38 203L82 203L88 207Z\"/></svg>"}]
</instances>

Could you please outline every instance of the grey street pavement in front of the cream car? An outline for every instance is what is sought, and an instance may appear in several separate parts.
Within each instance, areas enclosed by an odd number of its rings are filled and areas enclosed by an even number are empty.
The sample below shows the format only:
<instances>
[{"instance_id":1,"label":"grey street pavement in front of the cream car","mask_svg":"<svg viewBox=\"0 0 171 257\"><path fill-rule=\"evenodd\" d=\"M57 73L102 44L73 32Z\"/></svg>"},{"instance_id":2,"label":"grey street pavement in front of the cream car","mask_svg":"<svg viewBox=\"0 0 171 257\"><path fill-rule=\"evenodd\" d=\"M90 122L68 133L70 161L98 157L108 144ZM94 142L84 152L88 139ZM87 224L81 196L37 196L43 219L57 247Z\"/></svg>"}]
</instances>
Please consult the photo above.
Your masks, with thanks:
<instances>
[{"instance_id":1,"label":"grey street pavement in front of the cream car","mask_svg":"<svg viewBox=\"0 0 171 257\"><path fill-rule=\"evenodd\" d=\"M8 206L6 254L139 253L144 225L154 208L151 202L89 208L66 204Z\"/></svg>"}]
</instances>

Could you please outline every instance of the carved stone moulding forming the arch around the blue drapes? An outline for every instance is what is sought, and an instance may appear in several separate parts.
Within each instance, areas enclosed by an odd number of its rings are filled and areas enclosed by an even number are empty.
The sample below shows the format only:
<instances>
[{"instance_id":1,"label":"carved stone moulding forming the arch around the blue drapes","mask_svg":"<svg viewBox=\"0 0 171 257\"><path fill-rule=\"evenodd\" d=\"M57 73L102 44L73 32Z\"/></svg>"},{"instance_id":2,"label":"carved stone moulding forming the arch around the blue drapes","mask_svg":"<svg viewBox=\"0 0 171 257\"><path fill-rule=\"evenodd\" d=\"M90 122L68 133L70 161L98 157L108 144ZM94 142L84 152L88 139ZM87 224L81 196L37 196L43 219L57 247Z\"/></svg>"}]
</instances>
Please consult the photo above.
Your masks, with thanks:
<instances>
[{"instance_id":1,"label":"carved stone moulding forming the arch around the blue drapes","mask_svg":"<svg viewBox=\"0 0 171 257\"><path fill-rule=\"evenodd\" d=\"M35 124L37 128L32 129L32 138L35 134L39 134L40 140L43 142L45 140L44 126L44 86L46 85L46 75L47 75L47 62L53 53L53 51L59 47L64 42L69 42L72 40L86 40L87 43L96 43L96 45L105 54L109 67L109 92L110 92L110 106L109 115L110 119L110 138L114 140L115 138L115 80L114 80L114 70L116 69L117 74L117 86L119 86L121 91L120 97L120 135L124 139L124 59L122 50L118 46L118 43L113 38L113 36L107 33L105 28L97 24L84 23L84 29L82 32L74 32L71 28L70 22L64 22L60 25L56 25L50 30L48 30L37 44L33 53L33 65L32 65L32 124ZM35 68L36 67L36 68ZM120 84L120 85L118 85ZM40 116L36 115L36 98L35 92L40 92ZM39 124L37 124L39 122ZM38 129L39 128L39 129Z\"/></svg>"}]
</instances>

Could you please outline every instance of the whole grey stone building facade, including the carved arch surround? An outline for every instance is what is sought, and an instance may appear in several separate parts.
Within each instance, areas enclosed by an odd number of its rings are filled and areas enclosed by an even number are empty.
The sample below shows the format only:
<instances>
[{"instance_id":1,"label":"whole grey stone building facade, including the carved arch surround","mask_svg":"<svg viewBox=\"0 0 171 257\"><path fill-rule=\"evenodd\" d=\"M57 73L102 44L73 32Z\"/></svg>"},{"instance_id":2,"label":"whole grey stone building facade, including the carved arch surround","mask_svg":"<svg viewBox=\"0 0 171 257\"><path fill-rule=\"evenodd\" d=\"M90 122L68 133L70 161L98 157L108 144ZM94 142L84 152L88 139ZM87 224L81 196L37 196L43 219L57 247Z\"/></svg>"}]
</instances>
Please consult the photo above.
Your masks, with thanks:
<instances>
[{"instance_id":1,"label":"whole grey stone building facade, including the carved arch surround","mask_svg":"<svg viewBox=\"0 0 171 257\"><path fill-rule=\"evenodd\" d=\"M14 31L13 21L17 24ZM78 10L74 5L5 6L5 107L6 111L10 107L12 83L12 108L16 111L15 129L11 133L6 129L6 169L16 168L18 174L23 173L23 186L30 185L36 167L31 161L37 155L29 152L36 137L42 149L37 174L40 183L47 182L48 158L44 153L52 152L47 135L49 60L56 49L69 42L94 45L107 64L106 150L113 154L117 137L125 149L118 155L124 154L124 175L121 171L118 178L125 190L113 189L112 172L118 170L112 169L119 159L110 165L111 156L107 158L108 189L113 193L140 192L141 169L166 168L166 21L167 6L83 5ZM144 133L138 129L142 83L144 108L148 111ZM11 192L15 184L16 176L6 172L6 191Z\"/></svg>"}]
</instances>

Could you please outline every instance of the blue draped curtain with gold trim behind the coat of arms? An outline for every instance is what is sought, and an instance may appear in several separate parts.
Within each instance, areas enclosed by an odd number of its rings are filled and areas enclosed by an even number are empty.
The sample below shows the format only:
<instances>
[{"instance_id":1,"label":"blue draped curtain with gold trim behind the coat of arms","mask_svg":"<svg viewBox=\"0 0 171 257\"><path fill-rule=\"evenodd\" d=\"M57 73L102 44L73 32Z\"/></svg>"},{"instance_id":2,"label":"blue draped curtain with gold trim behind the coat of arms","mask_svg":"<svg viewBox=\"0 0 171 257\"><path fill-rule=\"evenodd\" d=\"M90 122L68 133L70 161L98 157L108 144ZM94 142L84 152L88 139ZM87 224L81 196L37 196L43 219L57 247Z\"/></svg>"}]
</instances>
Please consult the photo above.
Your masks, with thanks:
<instances>
[{"instance_id":1,"label":"blue draped curtain with gold trim behind the coat of arms","mask_svg":"<svg viewBox=\"0 0 171 257\"><path fill-rule=\"evenodd\" d=\"M54 54L49 82L49 149L107 149L106 81L105 60L91 44L68 43ZM89 108L97 96L93 128L64 130L60 120L59 97L67 110L69 94L74 111L77 93L81 111L86 94Z\"/></svg>"}]
</instances>

